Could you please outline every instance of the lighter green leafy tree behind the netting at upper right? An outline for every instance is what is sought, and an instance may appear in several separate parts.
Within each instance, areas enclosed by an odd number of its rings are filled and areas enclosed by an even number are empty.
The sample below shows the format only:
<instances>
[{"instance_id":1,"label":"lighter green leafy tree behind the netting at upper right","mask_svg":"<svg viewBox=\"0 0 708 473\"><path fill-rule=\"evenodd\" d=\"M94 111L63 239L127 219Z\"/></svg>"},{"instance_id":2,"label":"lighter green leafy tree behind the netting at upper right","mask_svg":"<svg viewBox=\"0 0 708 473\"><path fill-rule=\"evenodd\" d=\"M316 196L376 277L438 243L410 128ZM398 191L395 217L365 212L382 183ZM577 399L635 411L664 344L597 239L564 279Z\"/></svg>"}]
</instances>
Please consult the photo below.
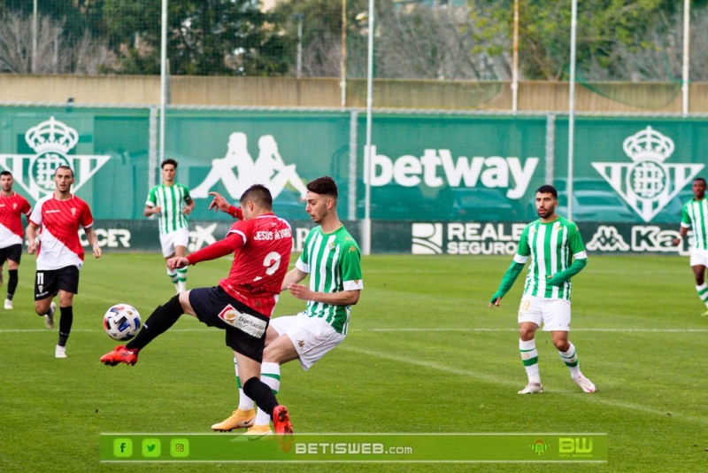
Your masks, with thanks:
<instances>
[{"instance_id":1,"label":"lighter green leafy tree behind the netting at upper right","mask_svg":"<svg viewBox=\"0 0 708 473\"><path fill-rule=\"evenodd\" d=\"M513 0L471 0L471 22L483 37L497 35L511 50ZM694 17L705 0L694 0ZM588 79L631 80L624 60L665 55L681 32L682 3L670 0L584 0L578 2L577 67ZM519 0L519 71L527 80L566 80L570 64L571 2ZM699 31L694 29L695 31ZM669 38L673 36L673 40ZM479 38L478 38L479 39ZM702 51L694 50L697 54ZM488 49L489 55L495 51ZM623 60L620 60L620 57ZM504 58L500 56L500 58ZM504 58L508 61L508 57ZM654 66L653 61L651 66ZM645 79L666 77L666 66L639 67ZM633 74L636 76L636 74Z\"/></svg>"}]
</instances>

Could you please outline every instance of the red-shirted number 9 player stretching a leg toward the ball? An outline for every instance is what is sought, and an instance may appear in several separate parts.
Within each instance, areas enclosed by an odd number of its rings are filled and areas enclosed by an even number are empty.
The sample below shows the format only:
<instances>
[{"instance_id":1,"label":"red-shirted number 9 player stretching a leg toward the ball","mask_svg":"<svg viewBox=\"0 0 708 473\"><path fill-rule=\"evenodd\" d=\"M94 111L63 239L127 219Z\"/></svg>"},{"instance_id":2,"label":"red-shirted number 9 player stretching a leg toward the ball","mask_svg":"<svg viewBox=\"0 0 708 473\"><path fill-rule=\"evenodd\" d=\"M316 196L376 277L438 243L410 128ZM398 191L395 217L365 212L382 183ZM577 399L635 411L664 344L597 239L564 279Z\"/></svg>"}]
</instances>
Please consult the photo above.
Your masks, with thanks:
<instances>
[{"instance_id":1,"label":"red-shirted number 9 player stretching a leg toward the ball","mask_svg":"<svg viewBox=\"0 0 708 473\"><path fill-rule=\"evenodd\" d=\"M106 365L135 365L138 352L164 333L181 314L194 315L200 322L226 331L226 345L234 350L243 391L270 413L276 433L292 433L288 409L278 404L267 384L260 380L266 330L288 272L292 250L292 229L273 214L273 197L256 184L241 197L242 221L235 221L223 240L189 256L167 260L168 268L184 268L201 261L234 253L228 276L217 287L180 292L150 314L138 335L106 353Z\"/></svg>"}]
</instances>

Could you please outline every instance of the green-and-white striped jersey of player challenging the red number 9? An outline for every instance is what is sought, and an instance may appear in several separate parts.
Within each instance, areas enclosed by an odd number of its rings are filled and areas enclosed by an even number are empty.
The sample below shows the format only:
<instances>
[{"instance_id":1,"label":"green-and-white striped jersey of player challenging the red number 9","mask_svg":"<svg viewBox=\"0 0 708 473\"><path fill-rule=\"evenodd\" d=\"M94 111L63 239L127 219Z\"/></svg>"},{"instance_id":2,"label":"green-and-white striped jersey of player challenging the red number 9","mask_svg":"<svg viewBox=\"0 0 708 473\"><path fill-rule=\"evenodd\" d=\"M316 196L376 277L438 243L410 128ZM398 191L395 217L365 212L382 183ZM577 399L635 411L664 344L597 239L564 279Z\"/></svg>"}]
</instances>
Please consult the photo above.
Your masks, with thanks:
<instances>
[{"instance_id":1,"label":"green-and-white striped jersey of player challenging the red number 9","mask_svg":"<svg viewBox=\"0 0 708 473\"><path fill-rule=\"evenodd\" d=\"M361 277L361 251L343 226L333 233L315 227L304 240L304 250L296 268L310 275L310 290L317 292L356 291L364 289ZM333 306L307 301L308 317L325 319L338 333L346 334L351 306Z\"/></svg>"}]
</instances>

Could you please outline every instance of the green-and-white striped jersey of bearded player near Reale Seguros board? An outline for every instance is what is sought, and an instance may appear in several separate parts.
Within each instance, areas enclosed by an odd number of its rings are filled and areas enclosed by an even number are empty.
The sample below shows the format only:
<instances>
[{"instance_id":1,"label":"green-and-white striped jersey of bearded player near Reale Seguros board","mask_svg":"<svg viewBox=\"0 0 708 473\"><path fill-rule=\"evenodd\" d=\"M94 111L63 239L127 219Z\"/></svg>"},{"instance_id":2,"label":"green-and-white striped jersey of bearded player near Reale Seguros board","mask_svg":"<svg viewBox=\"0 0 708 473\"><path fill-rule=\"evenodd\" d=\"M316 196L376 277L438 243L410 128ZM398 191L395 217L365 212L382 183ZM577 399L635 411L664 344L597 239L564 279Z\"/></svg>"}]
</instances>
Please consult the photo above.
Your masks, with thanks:
<instances>
[{"instance_id":1,"label":"green-and-white striped jersey of bearded player near Reale Seguros board","mask_svg":"<svg viewBox=\"0 0 708 473\"><path fill-rule=\"evenodd\" d=\"M570 281L554 286L547 283L547 276L565 271L573 263L573 258L588 258L578 226L560 216L548 223L540 219L532 221L521 232L514 261L526 264L529 256L531 266L524 284L524 295L570 300Z\"/></svg>"}]
</instances>

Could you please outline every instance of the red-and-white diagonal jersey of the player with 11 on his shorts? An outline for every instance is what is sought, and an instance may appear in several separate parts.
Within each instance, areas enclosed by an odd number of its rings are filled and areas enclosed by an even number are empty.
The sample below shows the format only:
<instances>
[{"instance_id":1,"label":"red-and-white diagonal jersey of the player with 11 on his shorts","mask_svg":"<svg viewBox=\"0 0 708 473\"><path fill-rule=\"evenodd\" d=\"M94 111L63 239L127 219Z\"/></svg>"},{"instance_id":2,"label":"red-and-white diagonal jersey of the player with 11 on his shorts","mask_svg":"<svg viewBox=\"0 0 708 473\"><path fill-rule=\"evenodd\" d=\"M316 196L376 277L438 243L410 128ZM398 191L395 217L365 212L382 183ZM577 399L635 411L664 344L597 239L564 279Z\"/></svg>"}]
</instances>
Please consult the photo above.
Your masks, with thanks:
<instances>
[{"instance_id":1,"label":"red-and-white diagonal jersey of the player with 11 on his shorts","mask_svg":"<svg viewBox=\"0 0 708 473\"><path fill-rule=\"evenodd\" d=\"M79 228L88 229L94 224L86 202L76 196L58 200L50 194L37 201L29 221L39 227L37 269L59 269L72 265L81 268L84 252Z\"/></svg>"}]
</instances>

